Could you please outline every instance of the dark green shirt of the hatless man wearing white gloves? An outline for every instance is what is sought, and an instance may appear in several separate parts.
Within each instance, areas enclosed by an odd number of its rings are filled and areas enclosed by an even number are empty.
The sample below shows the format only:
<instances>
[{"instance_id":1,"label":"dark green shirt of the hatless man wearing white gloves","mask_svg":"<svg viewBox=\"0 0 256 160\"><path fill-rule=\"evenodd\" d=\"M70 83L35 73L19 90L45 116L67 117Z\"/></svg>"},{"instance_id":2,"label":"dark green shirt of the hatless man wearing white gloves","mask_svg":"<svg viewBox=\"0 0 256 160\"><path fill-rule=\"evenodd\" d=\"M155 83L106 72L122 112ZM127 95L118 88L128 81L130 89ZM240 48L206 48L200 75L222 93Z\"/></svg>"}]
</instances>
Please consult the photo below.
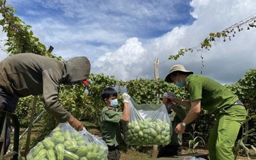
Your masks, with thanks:
<instances>
[{"instance_id":1,"label":"dark green shirt of the hatless man wearing white gloves","mask_svg":"<svg viewBox=\"0 0 256 160\"><path fill-rule=\"evenodd\" d=\"M110 146L118 146L121 140L120 120L122 112L118 109L108 109L105 106L100 116L100 130L102 132L102 140Z\"/></svg>"}]
</instances>

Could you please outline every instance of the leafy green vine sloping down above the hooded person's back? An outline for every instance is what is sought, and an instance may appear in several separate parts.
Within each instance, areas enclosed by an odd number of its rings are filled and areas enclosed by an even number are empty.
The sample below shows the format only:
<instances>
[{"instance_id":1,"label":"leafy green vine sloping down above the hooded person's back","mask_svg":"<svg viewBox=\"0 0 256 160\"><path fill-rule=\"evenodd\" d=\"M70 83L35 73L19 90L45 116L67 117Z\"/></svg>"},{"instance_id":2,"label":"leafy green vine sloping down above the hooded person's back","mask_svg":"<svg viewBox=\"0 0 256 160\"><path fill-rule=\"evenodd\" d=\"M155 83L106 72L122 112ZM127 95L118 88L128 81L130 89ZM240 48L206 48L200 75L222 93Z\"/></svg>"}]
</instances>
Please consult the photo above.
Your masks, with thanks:
<instances>
[{"instance_id":1,"label":"leafy green vine sloping down above the hooded person's back","mask_svg":"<svg viewBox=\"0 0 256 160\"><path fill-rule=\"evenodd\" d=\"M47 51L44 44L39 42L39 38L33 36L33 31L30 31L31 26L25 24L19 17L15 16L16 12L12 6L6 4L6 0L0 0L0 13L3 19L0 20L0 25L3 26L3 32L6 33L7 40L3 40L7 49L2 51L13 55L22 52L32 52L43 56L55 58Z\"/></svg>"}]
</instances>

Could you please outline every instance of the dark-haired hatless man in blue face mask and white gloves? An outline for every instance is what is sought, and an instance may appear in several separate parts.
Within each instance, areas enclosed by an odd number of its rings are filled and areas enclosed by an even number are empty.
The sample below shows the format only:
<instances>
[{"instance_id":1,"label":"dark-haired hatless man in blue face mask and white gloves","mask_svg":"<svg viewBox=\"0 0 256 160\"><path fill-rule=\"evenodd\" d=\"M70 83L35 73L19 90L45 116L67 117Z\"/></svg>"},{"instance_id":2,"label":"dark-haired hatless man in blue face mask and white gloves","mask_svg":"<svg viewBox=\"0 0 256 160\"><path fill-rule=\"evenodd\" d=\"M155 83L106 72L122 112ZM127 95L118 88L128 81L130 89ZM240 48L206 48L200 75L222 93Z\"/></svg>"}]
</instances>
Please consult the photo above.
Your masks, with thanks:
<instances>
[{"instance_id":1,"label":"dark-haired hatless man in blue face mask and white gloves","mask_svg":"<svg viewBox=\"0 0 256 160\"><path fill-rule=\"evenodd\" d=\"M117 92L114 88L104 88L102 92L102 99L104 101L104 108L100 116L100 130L102 132L102 140L108 145L108 160L119 160L120 142L122 134L120 131L120 122L129 122L130 110L129 99L127 93L123 93L124 111L118 111Z\"/></svg>"}]
</instances>

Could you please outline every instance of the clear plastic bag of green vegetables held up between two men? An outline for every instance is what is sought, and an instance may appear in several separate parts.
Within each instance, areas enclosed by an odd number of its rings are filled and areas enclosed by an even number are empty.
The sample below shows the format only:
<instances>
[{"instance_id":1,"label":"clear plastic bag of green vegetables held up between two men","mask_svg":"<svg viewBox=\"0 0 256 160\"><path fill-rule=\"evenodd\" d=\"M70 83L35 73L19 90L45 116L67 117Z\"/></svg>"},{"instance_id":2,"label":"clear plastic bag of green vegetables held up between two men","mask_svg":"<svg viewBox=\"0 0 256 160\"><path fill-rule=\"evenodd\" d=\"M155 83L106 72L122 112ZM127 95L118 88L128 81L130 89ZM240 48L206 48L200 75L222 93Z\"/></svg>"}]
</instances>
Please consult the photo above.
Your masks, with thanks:
<instances>
[{"instance_id":1,"label":"clear plastic bag of green vegetables held up between two men","mask_svg":"<svg viewBox=\"0 0 256 160\"><path fill-rule=\"evenodd\" d=\"M172 122L164 104L137 104L129 100L130 122L124 123L127 145L168 145Z\"/></svg>"}]
</instances>

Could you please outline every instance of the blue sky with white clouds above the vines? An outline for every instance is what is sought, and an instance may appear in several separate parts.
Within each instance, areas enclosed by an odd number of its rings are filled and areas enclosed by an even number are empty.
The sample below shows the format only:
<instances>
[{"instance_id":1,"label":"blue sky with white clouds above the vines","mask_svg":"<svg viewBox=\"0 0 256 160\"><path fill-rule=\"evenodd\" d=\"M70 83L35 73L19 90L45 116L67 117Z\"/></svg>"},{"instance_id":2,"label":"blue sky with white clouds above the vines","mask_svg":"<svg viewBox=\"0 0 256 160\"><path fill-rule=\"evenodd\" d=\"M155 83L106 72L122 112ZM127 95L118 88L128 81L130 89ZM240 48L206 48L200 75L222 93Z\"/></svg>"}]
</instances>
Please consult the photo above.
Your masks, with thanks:
<instances>
[{"instance_id":1,"label":"blue sky with white clouds above the vines","mask_svg":"<svg viewBox=\"0 0 256 160\"><path fill-rule=\"evenodd\" d=\"M236 31L223 42L216 39L210 51L186 52L168 60L179 49L200 44L209 33L256 16L255 0L7 0L15 15L32 26L34 36L52 53L68 60L86 56L92 74L115 79L154 79L154 60L159 77L172 65L182 64L194 74L221 84L236 83L256 68L256 28ZM0 39L6 36L3 31ZM4 48L3 42L1 47ZM8 54L0 52L0 60ZM203 57L203 59L201 58ZM202 67L204 65L204 67Z\"/></svg>"}]
</instances>

